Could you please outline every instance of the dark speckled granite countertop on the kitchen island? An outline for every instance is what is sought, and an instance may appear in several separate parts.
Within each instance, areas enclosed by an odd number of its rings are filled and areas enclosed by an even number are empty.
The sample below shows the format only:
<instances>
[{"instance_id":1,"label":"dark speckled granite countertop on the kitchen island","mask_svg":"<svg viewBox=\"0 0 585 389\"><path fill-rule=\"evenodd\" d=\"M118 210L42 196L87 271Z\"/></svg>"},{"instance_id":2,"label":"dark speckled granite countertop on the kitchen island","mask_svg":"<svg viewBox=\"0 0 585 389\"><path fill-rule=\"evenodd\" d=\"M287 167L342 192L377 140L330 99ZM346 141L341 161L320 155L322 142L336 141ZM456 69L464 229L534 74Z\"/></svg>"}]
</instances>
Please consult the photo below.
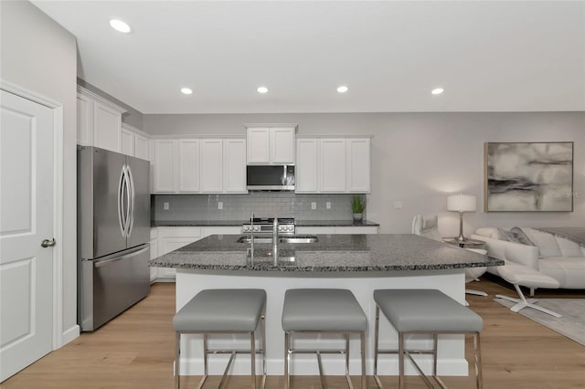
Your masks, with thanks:
<instances>
[{"instance_id":1,"label":"dark speckled granite countertop on the kitchen island","mask_svg":"<svg viewBox=\"0 0 585 389\"><path fill-rule=\"evenodd\" d=\"M279 244L272 264L271 244L238 243L239 235L212 235L151 260L159 268L276 272L363 272L434 270L504 265L463 248L412 234L318 235L319 241Z\"/></svg>"}]
</instances>

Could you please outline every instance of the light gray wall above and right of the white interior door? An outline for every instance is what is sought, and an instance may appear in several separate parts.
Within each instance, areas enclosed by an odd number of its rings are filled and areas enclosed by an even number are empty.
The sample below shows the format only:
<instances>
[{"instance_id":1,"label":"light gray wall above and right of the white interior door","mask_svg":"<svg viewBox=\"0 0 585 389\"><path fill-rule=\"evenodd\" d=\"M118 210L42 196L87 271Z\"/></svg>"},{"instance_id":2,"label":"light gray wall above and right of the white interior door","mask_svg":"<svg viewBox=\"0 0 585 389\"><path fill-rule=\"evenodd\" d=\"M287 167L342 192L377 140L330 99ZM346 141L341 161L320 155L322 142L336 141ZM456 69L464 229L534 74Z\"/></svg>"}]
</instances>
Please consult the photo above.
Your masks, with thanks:
<instances>
[{"instance_id":1,"label":"light gray wall above and right of the white interior door","mask_svg":"<svg viewBox=\"0 0 585 389\"><path fill-rule=\"evenodd\" d=\"M63 331L77 325L76 41L24 1L2 1L0 77L63 105Z\"/></svg>"}]
</instances>

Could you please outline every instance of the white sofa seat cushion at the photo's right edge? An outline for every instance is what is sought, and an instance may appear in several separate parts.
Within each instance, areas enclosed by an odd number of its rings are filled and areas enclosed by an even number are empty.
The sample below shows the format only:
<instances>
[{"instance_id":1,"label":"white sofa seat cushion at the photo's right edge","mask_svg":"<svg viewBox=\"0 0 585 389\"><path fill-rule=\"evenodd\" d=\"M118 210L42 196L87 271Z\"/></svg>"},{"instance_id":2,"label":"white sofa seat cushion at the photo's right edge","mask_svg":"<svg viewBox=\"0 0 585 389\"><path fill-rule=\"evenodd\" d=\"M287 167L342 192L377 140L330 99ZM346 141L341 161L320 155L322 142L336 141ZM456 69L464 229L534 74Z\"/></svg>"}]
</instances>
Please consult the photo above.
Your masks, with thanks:
<instances>
[{"instance_id":1,"label":"white sofa seat cushion at the photo's right edge","mask_svg":"<svg viewBox=\"0 0 585 389\"><path fill-rule=\"evenodd\" d=\"M548 257L538 260L538 270L558 279L561 288L585 288L585 257Z\"/></svg>"}]
</instances>

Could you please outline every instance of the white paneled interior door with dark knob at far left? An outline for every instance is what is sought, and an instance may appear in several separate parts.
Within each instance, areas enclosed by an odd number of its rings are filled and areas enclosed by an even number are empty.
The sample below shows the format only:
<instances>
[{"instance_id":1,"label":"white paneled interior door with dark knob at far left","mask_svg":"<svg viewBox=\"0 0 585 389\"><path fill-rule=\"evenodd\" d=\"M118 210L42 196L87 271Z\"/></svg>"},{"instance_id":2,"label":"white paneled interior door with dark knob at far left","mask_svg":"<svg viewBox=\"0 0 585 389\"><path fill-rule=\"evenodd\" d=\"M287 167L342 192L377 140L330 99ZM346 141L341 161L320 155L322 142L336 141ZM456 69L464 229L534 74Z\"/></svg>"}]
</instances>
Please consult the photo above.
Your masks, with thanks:
<instances>
[{"instance_id":1,"label":"white paneled interior door with dark knob at far left","mask_svg":"<svg viewBox=\"0 0 585 389\"><path fill-rule=\"evenodd\" d=\"M0 381L4 381L52 350L55 126L53 110L1 93ZM44 239L48 247L41 247Z\"/></svg>"}]
</instances>

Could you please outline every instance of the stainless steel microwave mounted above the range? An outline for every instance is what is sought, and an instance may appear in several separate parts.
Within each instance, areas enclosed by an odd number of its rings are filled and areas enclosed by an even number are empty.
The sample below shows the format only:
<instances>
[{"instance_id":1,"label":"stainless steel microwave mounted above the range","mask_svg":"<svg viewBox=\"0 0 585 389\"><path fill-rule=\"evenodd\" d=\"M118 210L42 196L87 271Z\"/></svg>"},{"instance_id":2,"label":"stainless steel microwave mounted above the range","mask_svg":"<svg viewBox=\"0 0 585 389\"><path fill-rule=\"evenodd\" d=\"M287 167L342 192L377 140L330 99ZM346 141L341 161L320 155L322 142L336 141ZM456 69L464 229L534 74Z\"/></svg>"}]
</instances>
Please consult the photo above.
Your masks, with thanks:
<instances>
[{"instance_id":1,"label":"stainless steel microwave mounted above the range","mask_svg":"<svg viewBox=\"0 0 585 389\"><path fill-rule=\"evenodd\" d=\"M248 165L246 188L250 191L293 191L294 165Z\"/></svg>"}]
</instances>

